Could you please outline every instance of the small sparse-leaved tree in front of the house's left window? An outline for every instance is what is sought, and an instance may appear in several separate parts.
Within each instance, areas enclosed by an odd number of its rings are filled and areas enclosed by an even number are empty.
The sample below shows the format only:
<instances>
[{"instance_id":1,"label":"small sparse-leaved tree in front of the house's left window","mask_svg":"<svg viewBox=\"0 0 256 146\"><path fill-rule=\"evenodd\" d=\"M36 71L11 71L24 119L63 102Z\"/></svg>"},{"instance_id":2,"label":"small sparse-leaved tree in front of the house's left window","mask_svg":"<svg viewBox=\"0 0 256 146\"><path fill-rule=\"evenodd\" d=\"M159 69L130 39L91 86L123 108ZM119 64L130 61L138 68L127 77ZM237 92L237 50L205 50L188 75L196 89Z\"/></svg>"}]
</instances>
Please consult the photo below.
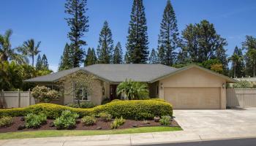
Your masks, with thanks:
<instances>
[{"instance_id":1,"label":"small sparse-leaved tree in front of the house's left window","mask_svg":"<svg viewBox=\"0 0 256 146\"><path fill-rule=\"evenodd\" d=\"M62 77L58 83L60 85L65 84L65 88L69 91L67 94L73 95L73 93L75 93L75 99L78 101L80 107L80 100L82 100L83 97L83 95L80 94L80 90L85 89L86 93L90 95L92 93L94 78L94 75L86 74L86 72L80 70Z\"/></svg>"}]
</instances>

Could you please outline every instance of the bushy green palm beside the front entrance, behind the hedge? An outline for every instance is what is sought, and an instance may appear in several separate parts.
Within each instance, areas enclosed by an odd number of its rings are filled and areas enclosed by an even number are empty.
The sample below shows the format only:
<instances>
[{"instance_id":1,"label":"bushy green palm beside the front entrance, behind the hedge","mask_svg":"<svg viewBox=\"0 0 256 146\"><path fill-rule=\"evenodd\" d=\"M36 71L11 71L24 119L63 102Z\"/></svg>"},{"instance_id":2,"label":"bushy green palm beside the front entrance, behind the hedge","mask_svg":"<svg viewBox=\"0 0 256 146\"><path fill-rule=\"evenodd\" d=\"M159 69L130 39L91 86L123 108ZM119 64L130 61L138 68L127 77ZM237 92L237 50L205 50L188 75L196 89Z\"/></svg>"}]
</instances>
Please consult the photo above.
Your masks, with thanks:
<instances>
[{"instance_id":1,"label":"bushy green palm beside the front entrance, behind the hedge","mask_svg":"<svg viewBox=\"0 0 256 146\"><path fill-rule=\"evenodd\" d=\"M148 85L143 82L135 82L132 80L125 80L121 82L117 88L116 93L121 95L124 93L129 100L132 99L146 99L148 97Z\"/></svg>"}]
</instances>

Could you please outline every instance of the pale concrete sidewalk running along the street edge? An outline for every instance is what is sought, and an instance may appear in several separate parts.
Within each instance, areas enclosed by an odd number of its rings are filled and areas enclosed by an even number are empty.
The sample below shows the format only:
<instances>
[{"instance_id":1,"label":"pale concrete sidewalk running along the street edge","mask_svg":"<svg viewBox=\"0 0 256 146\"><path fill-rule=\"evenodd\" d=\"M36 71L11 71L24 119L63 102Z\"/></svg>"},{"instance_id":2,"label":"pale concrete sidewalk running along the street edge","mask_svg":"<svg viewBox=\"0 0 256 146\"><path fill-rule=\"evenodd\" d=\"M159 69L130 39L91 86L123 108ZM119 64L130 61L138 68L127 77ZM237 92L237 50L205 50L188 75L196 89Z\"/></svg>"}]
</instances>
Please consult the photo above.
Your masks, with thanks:
<instances>
[{"instance_id":1,"label":"pale concrete sidewalk running along the street edge","mask_svg":"<svg viewBox=\"0 0 256 146\"><path fill-rule=\"evenodd\" d=\"M211 129L203 131L170 131L144 134L116 134L83 137L48 137L35 139L0 140L1 146L88 146L88 145L146 145L168 142L205 141L212 139L237 139L256 137L256 130L250 132L229 132L220 134Z\"/></svg>"}]
</instances>

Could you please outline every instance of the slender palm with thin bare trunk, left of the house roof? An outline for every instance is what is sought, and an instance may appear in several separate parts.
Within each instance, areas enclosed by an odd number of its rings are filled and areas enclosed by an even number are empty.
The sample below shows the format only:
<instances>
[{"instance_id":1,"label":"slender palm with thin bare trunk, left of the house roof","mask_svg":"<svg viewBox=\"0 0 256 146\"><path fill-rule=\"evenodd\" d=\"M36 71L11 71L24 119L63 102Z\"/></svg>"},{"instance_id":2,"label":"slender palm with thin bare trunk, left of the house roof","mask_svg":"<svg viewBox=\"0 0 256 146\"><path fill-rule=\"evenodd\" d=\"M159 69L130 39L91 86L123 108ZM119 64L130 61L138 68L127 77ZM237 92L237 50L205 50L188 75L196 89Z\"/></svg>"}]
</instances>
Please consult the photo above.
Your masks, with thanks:
<instances>
[{"instance_id":1,"label":"slender palm with thin bare trunk, left of the house roof","mask_svg":"<svg viewBox=\"0 0 256 146\"><path fill-rule=\"evenodd\" d=\"M22 52L23 55L29 55L32 58L32 66L34 66L34 56L40 52L40 44L41 42L37 42L37 45L35 45L34 39L29 39L20 47L20 52Z\"/></svg>"}]
</instances>

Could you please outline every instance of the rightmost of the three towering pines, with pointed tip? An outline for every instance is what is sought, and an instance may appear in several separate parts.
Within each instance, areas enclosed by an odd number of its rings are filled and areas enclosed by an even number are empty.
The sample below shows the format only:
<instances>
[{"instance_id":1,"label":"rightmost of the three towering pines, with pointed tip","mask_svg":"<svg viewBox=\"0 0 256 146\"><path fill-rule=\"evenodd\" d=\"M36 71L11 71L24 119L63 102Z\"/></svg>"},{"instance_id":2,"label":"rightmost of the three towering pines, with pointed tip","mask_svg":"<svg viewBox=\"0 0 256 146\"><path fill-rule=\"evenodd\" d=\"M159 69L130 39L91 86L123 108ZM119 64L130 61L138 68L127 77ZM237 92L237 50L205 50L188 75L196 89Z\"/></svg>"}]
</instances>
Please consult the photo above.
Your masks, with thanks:
<instances>
[{"instance_id":1,"label":"rightmost of the three towering pines, with pointed tip","mask_svg":"<svg viewBox=\"0 0 256 146\"><path fill-rule=\"evenodd\" d=\"M172 66L176 61L178 47L178 27L176 15L170 0L167 0L158 39L159 63Z\"/></svg>"}]
</instances>

